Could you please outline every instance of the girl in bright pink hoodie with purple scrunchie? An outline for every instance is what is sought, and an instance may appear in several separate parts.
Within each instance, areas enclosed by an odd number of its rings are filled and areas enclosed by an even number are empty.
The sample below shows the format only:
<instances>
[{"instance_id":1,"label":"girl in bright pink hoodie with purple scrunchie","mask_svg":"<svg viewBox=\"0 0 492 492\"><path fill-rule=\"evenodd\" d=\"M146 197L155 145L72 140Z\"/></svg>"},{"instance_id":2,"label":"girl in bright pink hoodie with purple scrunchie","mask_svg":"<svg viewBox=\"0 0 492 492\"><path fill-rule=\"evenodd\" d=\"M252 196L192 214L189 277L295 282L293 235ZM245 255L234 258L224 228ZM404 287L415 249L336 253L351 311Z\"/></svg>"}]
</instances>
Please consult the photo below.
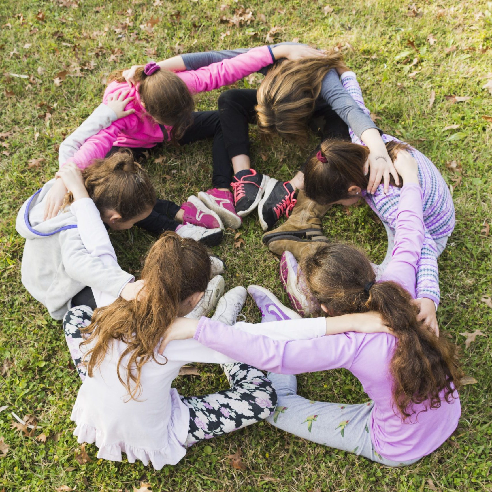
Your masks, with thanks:
<instances>
[{"instance_id":1,"label":"girl in bright pink hoodie with purple scrunchie","mask_svg":"<svg viewBox=\"0 0 492 492\"><path fill-rule=\"evenodd\" d=\"M137 84L131 88L130 96L133 100L128 105L134 112L88 138L72 156L72 160L80 168L85 168L93 158L103 158L118 152L121 147L131 148L134 157L138 158L163 141L184 145L204 138L214 138L213 183L217 189L228 191L231 181L230 161L223 145L218 113L194 112L192 95L232 84L269 65L276 58L296 58L311 51L314 50L299 46L279 46L273 49L263 46L232 60L178 73L165 69L165 62L151 62L140 66L135 71ZM113 74L112 79L104 92L103 102L106 102L110 94L127 89L121 72ZM48 197L51 211L49 216L58 211L64 193L62 182L57 182ZM227 205L228 196L224 195L223 199L224 207L230 209L225 215L225 225L239 227L241 219L236 215L233 204ZM146 221L140 225L147 227ZM154 228L155 224L151 223L148 227ZM161 227L160 230L164 229Z\"/></svg>"}]
</instances>

